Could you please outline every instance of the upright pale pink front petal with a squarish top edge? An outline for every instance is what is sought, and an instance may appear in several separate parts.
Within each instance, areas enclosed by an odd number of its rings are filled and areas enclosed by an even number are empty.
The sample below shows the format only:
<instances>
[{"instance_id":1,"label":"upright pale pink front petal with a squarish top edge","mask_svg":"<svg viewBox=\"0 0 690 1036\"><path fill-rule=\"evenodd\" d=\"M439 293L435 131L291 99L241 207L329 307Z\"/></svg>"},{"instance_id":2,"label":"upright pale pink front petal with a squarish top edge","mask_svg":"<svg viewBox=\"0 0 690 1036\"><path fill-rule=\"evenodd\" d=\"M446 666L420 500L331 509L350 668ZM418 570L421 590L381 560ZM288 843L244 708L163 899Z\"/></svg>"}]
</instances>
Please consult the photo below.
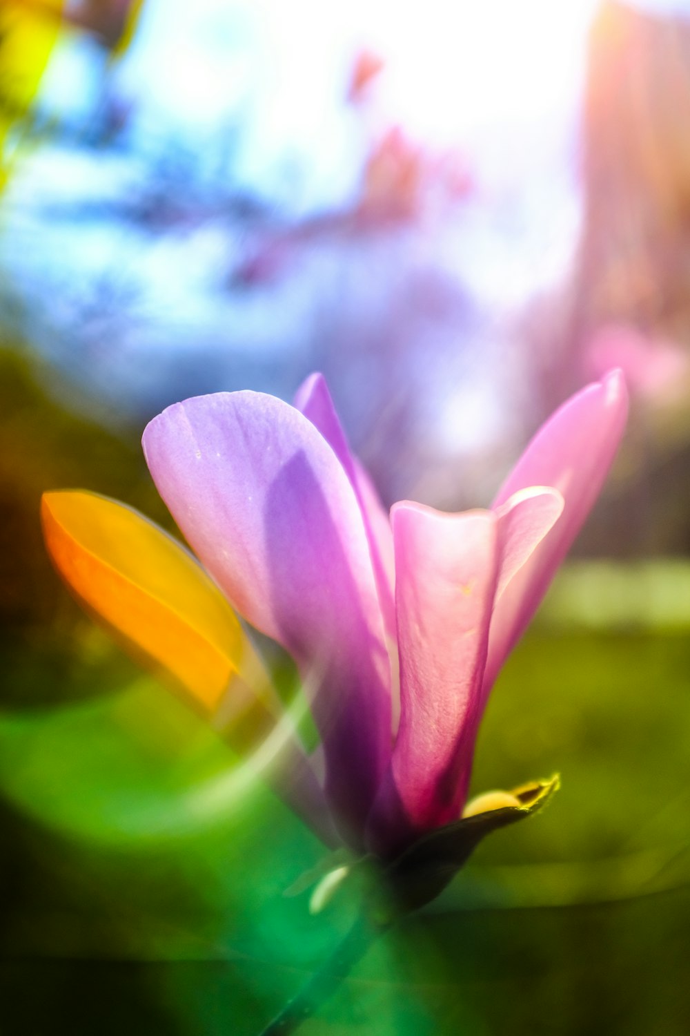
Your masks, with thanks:
<instances>
[{"instance_id":1,"label":"upright pale pink front petal with a squarish top edge","mask_svg":"<svg viewBox=\"0 0 690 1036\"><path fill-rule=\"evenodd\" d=\"M466 731L480 707L499 566L499 518L393 508L400 726L368 831L390 853L459 815Z\"/></svg>"}]
</instances>

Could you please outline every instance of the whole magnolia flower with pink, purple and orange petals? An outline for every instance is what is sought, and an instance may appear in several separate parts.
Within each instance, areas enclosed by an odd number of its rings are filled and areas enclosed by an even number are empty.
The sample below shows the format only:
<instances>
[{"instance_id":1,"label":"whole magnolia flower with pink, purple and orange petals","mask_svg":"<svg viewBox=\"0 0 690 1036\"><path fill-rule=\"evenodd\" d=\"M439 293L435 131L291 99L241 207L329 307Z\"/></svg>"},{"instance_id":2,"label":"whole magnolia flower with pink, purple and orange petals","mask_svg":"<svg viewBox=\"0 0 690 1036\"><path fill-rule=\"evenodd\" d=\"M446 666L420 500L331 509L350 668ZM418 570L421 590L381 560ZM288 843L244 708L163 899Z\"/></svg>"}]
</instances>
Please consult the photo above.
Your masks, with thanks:
<instances>
[{"instance_id":1,"label":"whole magnolia flower with pink, purple and orange petals","mask_svg":"<svg viewBox=\"0 0 690 1036\"><path fill-rule=\"evenodd\" d=\"M396 503L351 454L324 379L294 406L253 392L169 407L153 480L201 565L136 512L43 497L81 600L252 750L281 706L245 626L296 661L321 744L286 735L274 786L331 846L386 861L440 830L529 811L542 785L467 803L497 674L599 493L627 398L609 374L532 440L489 510ZM479 830L479 829L478 829Z\"/></svg>"}]
</instances>

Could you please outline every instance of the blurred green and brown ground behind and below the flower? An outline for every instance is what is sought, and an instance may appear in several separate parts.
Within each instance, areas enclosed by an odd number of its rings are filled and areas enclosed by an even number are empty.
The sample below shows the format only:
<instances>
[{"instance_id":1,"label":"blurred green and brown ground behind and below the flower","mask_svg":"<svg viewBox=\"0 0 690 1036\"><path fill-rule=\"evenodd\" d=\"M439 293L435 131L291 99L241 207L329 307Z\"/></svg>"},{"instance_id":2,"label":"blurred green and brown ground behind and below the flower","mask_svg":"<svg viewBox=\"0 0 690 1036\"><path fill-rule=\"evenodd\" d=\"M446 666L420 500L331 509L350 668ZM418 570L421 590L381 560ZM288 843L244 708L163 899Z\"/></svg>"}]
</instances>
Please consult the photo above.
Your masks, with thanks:
<instances>
[{"instance_id":1,"label":"blurred green and brown ground behind and below the flower","mask_svg":"<svg viewBox=\"0 0 690 1036\"><path fill-rule=\"evenodd\" d=\"M283 894L318 842L71 606L40 489L161 508L133 430L70 418L3 363L0 1033L250 1036L354 903L312 917ZM689 575L563 572L499 681L473 782L560 771L562 790L374 946L305 1036L690 1031Z\"/></svg>"}]
</instances>

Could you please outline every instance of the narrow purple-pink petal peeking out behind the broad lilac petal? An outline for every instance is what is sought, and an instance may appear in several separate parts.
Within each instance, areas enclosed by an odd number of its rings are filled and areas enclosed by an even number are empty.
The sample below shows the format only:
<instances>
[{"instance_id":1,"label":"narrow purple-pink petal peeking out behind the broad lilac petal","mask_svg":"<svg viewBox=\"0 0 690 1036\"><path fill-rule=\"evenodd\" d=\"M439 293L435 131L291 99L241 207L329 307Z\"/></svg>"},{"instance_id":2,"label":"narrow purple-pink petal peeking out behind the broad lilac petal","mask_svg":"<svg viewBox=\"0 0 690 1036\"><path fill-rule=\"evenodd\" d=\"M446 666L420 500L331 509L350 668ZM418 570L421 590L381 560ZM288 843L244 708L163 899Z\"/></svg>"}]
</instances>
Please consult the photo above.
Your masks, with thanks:
<instances>
[{"instance_id":1,"label":"narrow purple-pink petal peeking out behind the broad lilac petal","mask_svg":"<svg viewBox=\"0 0 690 1036\"><path fill-rule=\"evenodd\" d=\"M393 536L388 514L366 470L350 451L323 374L310 374L297 390L295 406L319 429L342 464L360 506L386 630L395 637Z\"/></svg>"}]
</instances>

